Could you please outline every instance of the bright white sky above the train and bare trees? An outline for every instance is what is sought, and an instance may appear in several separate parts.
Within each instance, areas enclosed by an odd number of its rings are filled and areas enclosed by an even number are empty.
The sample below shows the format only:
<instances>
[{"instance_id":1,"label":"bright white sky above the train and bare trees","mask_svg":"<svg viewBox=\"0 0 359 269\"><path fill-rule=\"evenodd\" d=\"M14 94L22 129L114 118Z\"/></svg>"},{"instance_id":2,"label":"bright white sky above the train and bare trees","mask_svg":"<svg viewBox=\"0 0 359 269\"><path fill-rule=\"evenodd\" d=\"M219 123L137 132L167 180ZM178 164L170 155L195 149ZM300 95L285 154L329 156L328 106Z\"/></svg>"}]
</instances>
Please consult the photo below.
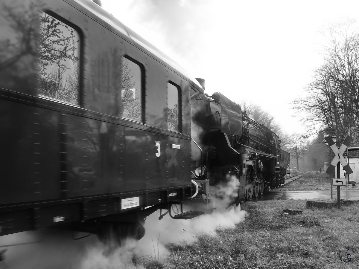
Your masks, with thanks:
<instances>
[{"instance_id":1,"label":"bright white sky above the train and bare trees","mask_svg":"<svg viewBox=\"0 0 359 269\"><path fill-rule=\"evenodd\" d=\"M261 106L304 132L289 102L320 67L320 31L354 18L359 1L102 0L102 7L234 102Z\"/></svg>"}]
</instances>

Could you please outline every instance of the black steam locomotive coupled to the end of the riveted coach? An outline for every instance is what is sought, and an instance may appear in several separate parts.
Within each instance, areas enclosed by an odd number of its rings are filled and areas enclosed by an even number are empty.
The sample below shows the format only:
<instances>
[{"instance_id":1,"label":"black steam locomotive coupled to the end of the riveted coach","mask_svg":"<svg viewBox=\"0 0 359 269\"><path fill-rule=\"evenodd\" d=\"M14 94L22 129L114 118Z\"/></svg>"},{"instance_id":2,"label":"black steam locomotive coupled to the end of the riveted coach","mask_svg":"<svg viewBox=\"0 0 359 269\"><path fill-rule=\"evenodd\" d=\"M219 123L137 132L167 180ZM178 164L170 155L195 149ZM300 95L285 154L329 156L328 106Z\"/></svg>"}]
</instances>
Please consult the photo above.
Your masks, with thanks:
<instances>
[{"instance_id":1,"label":"black steam locomotive coupled to the end of the riveted coach","mask_svg":"<svg viewBox=\"0 0 359 269\"><path fill-rule=\"evenodd\" d=\"M284 183L289 153L274 132L221 93L193 93L191 105L192 179L199 195L208 198L211 186L234 179L230 203L238 204Z\"/></svg>"}]
</instances>

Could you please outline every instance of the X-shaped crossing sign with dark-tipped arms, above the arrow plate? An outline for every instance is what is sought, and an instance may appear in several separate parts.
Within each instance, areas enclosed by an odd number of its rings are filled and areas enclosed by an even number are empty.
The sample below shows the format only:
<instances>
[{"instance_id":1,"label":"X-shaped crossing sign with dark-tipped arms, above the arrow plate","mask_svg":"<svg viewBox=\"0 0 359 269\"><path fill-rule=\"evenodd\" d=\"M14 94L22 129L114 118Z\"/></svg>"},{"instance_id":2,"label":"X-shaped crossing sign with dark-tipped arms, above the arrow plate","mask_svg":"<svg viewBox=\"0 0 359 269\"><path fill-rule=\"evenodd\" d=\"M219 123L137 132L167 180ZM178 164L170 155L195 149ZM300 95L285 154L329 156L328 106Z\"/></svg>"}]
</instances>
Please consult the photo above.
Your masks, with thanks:
<instances>
[{"instance_id":1,"label":"X-shaped crossing sign with dark-tipped arms, above the arrow plate","mask_svg":"<svg viewBox=\"0 0 359 269\"><path fill-rule=\"evenodd\" d=\"M333 158L331 164L329 165L327 171L325 171L325 172L330 175L334 174L335 166L337 165L338 162L340 162L341 165L343 166L343 168L345 169L345 172L348 175L353 173L353 170L351 170L348 162L346 162L346 160L344 159L344 156L343 156L344 151L349 146L351 137L350 136L345 137L344 142L341 144L339 149L337 148L337 146L335 145L334 141L332 140L332 138L330 136L327 136L325 138L325 140L327 141L328 145L330 146L330 148L332 149L332 151L335 154L335 157Z\"/></svg>"}]
</instances>

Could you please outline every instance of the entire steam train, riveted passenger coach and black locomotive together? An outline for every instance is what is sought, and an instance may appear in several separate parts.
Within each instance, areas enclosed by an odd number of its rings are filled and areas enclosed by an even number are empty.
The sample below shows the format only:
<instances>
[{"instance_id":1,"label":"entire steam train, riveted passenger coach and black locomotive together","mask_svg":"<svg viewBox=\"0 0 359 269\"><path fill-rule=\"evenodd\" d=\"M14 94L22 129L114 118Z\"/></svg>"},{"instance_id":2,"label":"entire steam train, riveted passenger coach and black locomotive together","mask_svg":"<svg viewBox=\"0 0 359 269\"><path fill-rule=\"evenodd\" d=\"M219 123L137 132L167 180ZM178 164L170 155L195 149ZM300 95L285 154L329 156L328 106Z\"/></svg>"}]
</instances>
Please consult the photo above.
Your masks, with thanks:
<instances>
[{"instance_id":1,"label":"entire steam train, riveted passenger coach and black locomotive together","mask_svg":"<svg viewBox=\"0 0 359 269\"><path fill-rule=\"evenodd\" d=\"M213 209L226 175L230 204L283 183L278 136L199 81L93 1L1 1L0 236L139 239L158 209Z\"/></svg>"}]
</instances>

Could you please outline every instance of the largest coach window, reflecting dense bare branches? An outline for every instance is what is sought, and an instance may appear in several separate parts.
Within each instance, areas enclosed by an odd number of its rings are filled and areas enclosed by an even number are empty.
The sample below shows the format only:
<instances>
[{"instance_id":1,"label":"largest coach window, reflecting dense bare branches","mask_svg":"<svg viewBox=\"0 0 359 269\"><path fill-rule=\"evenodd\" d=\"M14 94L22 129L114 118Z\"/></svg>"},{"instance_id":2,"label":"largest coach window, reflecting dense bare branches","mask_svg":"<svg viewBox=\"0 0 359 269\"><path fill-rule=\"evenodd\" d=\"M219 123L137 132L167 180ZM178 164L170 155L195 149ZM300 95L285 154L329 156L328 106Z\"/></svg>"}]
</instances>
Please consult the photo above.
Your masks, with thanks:
<instances>
[{"instance_id":1,"label":"largest coach window, reflecting dense bare branches","mask_svg":"<svg viewBox=\"0 0 359 269\"><path fill-rule=\"evenodd\" d=\"M69 24L41 12L38 94L79 104L80 35Z\"/></svg>"}]
</instances>

